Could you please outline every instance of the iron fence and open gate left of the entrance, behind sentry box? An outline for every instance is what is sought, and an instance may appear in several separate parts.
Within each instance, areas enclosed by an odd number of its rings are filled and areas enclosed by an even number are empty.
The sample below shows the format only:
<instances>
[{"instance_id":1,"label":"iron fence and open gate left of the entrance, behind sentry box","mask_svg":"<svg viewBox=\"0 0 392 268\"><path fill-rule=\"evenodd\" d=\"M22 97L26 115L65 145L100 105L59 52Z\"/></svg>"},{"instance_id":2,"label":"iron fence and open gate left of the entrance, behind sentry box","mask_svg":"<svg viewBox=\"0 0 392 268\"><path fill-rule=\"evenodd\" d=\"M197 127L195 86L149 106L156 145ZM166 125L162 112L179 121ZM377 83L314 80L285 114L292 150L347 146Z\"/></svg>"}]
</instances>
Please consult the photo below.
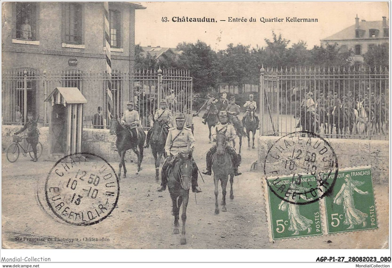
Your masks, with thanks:
<instances>
[{"instance_id":1,"label":"iron fence and open gate left of the entrance, behind sentry box","mask_svg":"<svg viewBox=\"0 0 392 268\"><path fill-rule=\"evenodd\" d=\"M74 69L42 73L29 68L3 71L2 123L22 125L27 112L38 115L43 111L41 119L44 125L49 125L51 105L44 100L56 87L77 87L82 92L87 100L83 109L83 127L109 127L110 118L106 112L107 74ZM141 125L145 129L151 127L161 99L166 98L172 112L189 114L192 109L192 78L189 71L138 70L135 74L114 71L111 90L113 115L121 118L126 101L134 100ZM94 120L94 116L98 119Z\"/></svg>"}]
</instances>

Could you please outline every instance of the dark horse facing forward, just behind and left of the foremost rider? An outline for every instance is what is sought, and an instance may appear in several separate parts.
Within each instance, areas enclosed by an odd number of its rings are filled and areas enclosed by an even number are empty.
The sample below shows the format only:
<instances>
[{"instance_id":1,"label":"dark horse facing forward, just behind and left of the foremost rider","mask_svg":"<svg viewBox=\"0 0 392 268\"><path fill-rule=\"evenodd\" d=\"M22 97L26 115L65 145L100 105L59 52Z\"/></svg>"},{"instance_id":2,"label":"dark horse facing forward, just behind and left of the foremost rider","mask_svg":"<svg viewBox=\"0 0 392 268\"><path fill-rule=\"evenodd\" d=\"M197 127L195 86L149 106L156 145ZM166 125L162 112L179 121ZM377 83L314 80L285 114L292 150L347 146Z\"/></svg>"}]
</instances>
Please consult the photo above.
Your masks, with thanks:
<instances>
[{"instance_id":1,"label":"dark horse facing forward, just behind and left of the foremost rider","mask_svg":"<svg viewBox=\"0 0 392 268\"><path fill-rule=\"evenodd\" d=\"M151 133L151 151L155 160L155 180L159 180L159 165L162 155L165 155L165 143L166 143L166 134L164 130L165 126L161 125L159 121L154 120L152 124L152 133Z\"/></svg>"}]
</instances>

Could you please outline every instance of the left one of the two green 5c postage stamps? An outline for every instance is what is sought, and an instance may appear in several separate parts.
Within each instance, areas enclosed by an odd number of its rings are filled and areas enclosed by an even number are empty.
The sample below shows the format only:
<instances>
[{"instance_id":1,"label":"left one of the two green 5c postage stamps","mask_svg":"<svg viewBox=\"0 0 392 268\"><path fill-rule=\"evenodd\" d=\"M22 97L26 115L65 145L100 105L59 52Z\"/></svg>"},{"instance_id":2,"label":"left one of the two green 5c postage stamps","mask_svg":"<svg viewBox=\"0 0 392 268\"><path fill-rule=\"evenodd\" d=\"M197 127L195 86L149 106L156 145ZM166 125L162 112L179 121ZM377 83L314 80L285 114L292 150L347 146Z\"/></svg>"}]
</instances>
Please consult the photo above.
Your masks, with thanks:
<instances>
[{"instance_id":1,"label":"left one of the two green 5c postage stamps","mask_svg":"<svg viewBox=\"0 0 392 268\"><path fill-rule=\"evenodd\" d=\"M265 199L270 241L295 237L322 235L319 193L307 187L315 182L313 175L274 177L265 180ZM272 192L271 186L284 192L283 200Z\"/></svg>"}]
</instances>

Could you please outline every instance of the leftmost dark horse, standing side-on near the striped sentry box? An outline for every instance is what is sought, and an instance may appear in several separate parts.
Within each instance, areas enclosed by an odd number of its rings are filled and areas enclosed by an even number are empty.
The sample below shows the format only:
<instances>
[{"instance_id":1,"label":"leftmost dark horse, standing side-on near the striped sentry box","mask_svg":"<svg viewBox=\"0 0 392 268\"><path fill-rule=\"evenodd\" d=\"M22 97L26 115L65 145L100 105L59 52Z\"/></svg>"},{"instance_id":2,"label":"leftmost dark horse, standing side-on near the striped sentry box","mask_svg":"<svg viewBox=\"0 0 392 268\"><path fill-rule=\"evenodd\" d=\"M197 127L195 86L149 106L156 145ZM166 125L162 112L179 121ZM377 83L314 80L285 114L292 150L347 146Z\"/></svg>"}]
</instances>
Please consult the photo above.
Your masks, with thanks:
<instances>
[{"instance_id":1,"label":"leftmost dark horse, standing side-on near the striped sentry box","mask_svg":"<svg viewBox=\"0 0 392 268\"><path fill-rule=\"evenodd\" d=\"M143 145L144 141L146 138L146 135L143 131L143 128L138 127L138 137L132 137L131 132L129 132L128 129L123 127L123 125L120 123L120 121L116 118L112 118L110 122L110 134L116 134L117 140L116 140L116 148L117 152L120 155L120 164L118 164L118 177L121 177L121 167L124 168L124 175L123 177L127 177L127 168L125 168L125 153L127 150L132 149L136 156L138 156L138 172L140 171L140 165L142 164L143 161ZM139 147L139 151L136 147Z\"/></svg>"}]
</instances>

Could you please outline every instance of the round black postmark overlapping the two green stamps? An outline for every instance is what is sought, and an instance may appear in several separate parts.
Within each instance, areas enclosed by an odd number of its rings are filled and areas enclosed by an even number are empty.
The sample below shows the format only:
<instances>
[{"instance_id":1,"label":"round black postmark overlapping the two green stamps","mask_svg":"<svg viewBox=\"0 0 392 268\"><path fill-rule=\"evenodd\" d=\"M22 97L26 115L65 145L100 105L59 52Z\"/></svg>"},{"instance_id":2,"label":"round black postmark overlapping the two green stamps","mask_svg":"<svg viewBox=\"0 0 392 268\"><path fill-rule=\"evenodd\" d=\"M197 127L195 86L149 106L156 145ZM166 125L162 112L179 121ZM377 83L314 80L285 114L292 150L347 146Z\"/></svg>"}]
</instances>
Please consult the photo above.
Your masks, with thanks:
<instances>
[{"instance_id":1,"label":"round black postmark overlapping the two green stamps","mask_svg":"<svg viewBox=\"0 0 392 268\"><path fill-rule=\"evenodd\" d=\"M270 191L280 199L309 204L332 192L338 177L338 158L328 141L318 134L292 132L269 148L264 175ZM331 177L332 183L327 182Z\"/></svg>"}]
</instances>

